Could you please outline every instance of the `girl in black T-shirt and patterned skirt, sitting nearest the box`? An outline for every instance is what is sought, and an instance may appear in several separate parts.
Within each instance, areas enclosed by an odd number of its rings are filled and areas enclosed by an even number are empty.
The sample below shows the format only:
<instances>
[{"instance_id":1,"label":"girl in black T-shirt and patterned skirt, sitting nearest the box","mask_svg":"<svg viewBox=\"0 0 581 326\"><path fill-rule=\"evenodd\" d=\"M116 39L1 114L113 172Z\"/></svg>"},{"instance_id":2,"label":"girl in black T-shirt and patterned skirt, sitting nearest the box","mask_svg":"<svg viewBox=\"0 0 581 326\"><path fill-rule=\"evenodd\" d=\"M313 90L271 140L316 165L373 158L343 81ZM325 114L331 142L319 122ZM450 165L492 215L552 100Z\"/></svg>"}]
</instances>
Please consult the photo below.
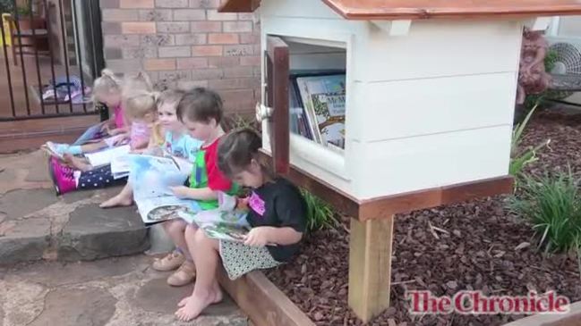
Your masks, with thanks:
<instances>
[{"instance_id":1,"label":"girl in black T-shirt and patterned skirt, sitting nearest the box","mask_svg":"<svg viewBox=\"0 0 581 326\"><path fill-rule=\"evenodd\" d=\"M247 199L246 219L252 229L244 243L209 238L203 230L189 225L185 240L196 269L192 296L178 306L176 317L191 321L209 305L222 300L218 286L218 263L231 280L256 269L288 262L299 248L306 227L305 203L289 181L276 178L259 163L261 138L252 130L235 130L218 146L218 167L231 180L253 189ZM276 246L267 246L276 245Z\"/></svg>"}]
</instances>

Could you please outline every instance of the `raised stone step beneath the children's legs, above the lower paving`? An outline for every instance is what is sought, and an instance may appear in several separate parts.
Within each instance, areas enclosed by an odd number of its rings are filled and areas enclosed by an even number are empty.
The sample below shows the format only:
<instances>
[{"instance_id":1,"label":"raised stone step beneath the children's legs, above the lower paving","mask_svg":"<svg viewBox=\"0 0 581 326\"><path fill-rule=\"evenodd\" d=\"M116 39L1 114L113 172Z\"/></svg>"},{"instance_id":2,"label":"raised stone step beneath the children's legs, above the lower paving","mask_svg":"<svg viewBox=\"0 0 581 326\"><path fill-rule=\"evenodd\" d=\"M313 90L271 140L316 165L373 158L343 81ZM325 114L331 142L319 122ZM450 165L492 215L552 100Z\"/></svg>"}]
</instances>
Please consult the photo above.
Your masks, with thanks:
<instances>
[{"instance_id":1,"label":"raised stone step beneath the children's legs, above the lower paving","mask_svg":"<svg viewBox=\"0 0 581 326\"><path fill-rule=\"evenodd\" d=\"M148 230L134 206L98 207L119 190L56 196L42 152L0 155L0 264L86 261L147 250Z\"/></svg>"}]
</instances>

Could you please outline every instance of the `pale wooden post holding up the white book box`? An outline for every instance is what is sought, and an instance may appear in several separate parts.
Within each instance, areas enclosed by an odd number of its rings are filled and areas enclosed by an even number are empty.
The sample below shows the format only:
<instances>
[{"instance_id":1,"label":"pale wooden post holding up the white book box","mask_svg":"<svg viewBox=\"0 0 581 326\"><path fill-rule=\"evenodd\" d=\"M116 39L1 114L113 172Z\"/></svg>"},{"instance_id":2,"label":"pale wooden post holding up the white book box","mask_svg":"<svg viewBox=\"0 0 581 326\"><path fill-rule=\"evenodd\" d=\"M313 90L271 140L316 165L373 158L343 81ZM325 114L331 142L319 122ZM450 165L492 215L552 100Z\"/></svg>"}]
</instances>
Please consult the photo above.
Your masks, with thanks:
<instances>
[{"instance_id":1,"label":"pale wooden post holding up the white book box","mask_svg":"<svg viewBox=\"0 0 581 326\"><path fill-rule=\"evenodd\" d=\"M349 306L363 322L389 307L393 218L351 219Z\"/></svg>"}]
</instances>

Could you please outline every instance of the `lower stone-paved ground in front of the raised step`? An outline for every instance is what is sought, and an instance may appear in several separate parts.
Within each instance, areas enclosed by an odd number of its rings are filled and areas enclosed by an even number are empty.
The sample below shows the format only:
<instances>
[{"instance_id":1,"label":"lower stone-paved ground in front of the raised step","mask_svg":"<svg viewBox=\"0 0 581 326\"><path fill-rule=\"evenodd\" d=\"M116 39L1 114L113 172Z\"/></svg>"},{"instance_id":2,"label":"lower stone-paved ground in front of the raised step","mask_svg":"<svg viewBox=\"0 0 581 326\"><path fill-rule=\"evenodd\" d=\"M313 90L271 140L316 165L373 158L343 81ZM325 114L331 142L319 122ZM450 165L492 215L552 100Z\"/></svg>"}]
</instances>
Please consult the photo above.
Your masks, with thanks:
<instances>
[{"instance_id":1,"label":"lower stone-paved ground in front of the raised step","mask_svg":"<svg viewBox=\"0 0 581 326\"><path fill-rule=\"evenodd\" d=\"M149 256L138 255L0 271L0 325L248 325L229 298L194 322L175 321L177 302L192 286L167 286L168 273L151 270L150 262Z\"/></svg>"}]
</instances>

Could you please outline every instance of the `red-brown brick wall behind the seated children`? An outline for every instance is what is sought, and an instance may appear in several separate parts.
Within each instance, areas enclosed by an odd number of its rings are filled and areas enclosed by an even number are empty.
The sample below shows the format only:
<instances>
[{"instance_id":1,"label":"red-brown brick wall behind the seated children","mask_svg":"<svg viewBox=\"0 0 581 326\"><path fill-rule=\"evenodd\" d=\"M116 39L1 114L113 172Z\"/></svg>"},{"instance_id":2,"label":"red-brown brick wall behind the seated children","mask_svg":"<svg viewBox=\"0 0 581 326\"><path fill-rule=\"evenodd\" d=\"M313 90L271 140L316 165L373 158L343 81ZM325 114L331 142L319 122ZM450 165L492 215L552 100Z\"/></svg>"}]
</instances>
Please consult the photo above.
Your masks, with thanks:
<instances>
[{"instance_id":1,"label":"red-brown brick wall behind the seated children","mask_svg":"<svg viewBox=\"0 0 581 326\"><path fill-rule=\"evenodd\" d=\"M101 0L107 67L147 71L158 88L218 90L226 110L260 99L259 23L218 13L219 0Z\"/></svg>"}]
</instances>

